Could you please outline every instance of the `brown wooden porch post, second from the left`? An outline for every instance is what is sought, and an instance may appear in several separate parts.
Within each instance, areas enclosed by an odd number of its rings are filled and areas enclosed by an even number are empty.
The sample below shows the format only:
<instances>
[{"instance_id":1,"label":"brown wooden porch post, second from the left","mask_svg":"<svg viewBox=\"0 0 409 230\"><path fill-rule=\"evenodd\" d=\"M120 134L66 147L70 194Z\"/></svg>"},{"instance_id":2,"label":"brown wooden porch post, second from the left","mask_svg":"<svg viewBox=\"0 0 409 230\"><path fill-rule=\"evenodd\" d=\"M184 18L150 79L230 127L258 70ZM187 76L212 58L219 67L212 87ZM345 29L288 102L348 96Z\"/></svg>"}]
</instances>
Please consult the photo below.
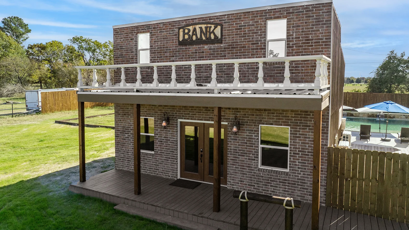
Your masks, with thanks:
<instances>
[{"instance_id":1,"label":"brown wooden porch post, second from the left","mask_svg":"<svg viewBox=\"0 0 409 230\"><path fill-rule=\"evenodd\" d=\"M141 194L141 104L133 104L134 193Z\"/></svg>"}]
</instances>

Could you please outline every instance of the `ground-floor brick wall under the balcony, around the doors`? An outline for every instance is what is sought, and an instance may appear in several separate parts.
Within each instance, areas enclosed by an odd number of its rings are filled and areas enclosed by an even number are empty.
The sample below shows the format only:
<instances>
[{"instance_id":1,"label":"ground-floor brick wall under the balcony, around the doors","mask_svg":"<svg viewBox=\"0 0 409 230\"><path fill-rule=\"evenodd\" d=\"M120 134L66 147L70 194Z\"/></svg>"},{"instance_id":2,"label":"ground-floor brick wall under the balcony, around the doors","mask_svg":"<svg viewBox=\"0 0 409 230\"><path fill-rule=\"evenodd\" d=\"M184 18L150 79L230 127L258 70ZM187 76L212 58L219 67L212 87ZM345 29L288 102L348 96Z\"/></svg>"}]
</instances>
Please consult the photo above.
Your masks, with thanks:
<instances>
[{"instance_id":1,"label":"ground-floor brick wall under the balcony, around the doors","mask_svg":"<svg viewBox=\"0 0 409 230\"><path fill-rule=\"evenodd\" d=\"M162 129L163 112L170 117ZM321 202L325 201L328 107L323 113L321 157ZM274 194L311 202L313 111L222 108L222 122L229 129L234 115L240 120L238 135L228 134L227 187L261 194ZM142 154L142 172L178 177L178 119L213 121L213 108L142 105L141 116L155 118L155 153ZM290 171L258 167L259 125L290 127ZM133 170L133 107L115 105L115 167Z\"/></svg>"}]
</instances>

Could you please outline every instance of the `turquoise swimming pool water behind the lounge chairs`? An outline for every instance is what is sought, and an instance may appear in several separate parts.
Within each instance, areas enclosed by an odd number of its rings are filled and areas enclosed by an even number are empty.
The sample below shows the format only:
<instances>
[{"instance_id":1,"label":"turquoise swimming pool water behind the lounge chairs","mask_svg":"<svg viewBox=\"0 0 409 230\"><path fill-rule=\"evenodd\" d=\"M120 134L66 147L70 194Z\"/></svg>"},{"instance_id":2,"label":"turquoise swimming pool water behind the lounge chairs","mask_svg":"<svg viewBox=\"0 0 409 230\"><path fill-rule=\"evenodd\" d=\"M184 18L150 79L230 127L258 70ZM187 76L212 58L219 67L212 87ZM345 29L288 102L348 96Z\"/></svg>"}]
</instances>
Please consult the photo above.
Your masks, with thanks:
<instances>
[{"instance_id":1,"label":"turquoise swimming pool water behind the lounge chairs","mask_svg":"<svg viewBox=\"0 0 409 230\"><path fill-rule=\"evenodd\" d=\"M379 132L379 120L366 117L347 117L345 130L359 131L361 125L371 125L371 132ZM389 119L388 133L398 133L401 127L409 127L409 119ZM381 119L381 132L385 129L386 119Z\"/></svg>"}]
</instances>

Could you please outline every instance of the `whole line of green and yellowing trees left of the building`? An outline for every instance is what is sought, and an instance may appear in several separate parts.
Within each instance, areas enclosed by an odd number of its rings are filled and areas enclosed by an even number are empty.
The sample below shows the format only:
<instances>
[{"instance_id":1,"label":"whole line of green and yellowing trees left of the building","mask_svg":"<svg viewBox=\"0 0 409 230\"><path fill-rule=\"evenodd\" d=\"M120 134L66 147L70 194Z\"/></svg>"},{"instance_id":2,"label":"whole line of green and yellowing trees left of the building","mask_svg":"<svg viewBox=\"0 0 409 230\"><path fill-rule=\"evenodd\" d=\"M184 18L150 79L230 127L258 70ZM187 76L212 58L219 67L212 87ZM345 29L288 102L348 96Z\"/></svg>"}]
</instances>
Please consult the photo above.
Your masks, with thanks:
<instances>
[{"instance_id":1,"label":"whole line of green and yellowing trees left of the building","mask_svg":"<svg viewBox=\"0 0 409 230\"><path fill-rule=\"evenodd\" d=\"M68 39L68 45L52 40L44 43L24 42L31 32L19 17L2 19L0 27L0 94L1 88L27 87L38 84L40 88L76 87L79 65L112 65L113 43L99 42L83 36ZM104 76L100 74L100 76ZM83 81L92 81L92 70L83 70ZM99 79L105 81L103 77Z\"/></svg>"}]
</instances>

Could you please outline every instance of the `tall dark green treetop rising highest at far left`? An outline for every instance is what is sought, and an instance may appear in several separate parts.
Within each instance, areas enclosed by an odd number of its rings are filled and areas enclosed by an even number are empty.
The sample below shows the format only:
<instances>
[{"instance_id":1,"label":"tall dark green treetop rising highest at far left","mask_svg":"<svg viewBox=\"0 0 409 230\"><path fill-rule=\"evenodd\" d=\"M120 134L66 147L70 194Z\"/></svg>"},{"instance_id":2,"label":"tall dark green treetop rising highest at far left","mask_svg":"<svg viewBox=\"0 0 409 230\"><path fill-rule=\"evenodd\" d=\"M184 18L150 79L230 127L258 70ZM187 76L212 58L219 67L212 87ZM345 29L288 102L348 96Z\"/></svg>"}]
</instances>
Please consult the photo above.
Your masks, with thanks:
<instances>
[{"instance_id":1,"label":"tall dark green treetop rising highest at far left","mask_svg":"<svg viewBox=\"0 0 409 230\"><path fill-rule=\"evenodd\" d=\"M0 30L13 38L19 45L28 39L27 34L31 33L28 25L19 17L11 16L3 18L1 21L3 26Z\"/></svg>"}]
</instances>

